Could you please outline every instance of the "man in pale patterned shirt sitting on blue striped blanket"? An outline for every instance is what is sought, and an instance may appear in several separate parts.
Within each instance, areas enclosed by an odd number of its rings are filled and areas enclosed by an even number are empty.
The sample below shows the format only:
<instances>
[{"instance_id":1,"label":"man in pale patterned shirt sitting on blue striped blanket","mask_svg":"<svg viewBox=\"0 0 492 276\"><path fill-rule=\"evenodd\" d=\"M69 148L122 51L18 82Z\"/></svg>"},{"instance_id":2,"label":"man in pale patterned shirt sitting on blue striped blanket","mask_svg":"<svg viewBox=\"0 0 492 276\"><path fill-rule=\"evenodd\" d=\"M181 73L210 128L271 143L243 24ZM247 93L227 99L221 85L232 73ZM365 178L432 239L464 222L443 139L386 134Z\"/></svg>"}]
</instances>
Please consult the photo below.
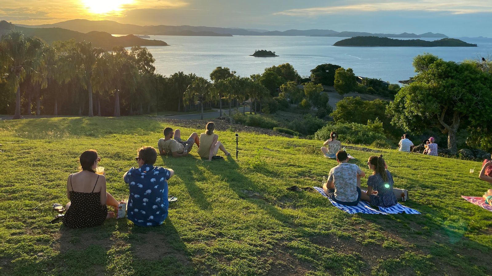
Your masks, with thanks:
<instances>
[{"instance_id":1,"label":"man in pale patterned shirt sitting on blue striped blanket","mask_svg":"<svg viewBox=\"0 0 492 276\"><path fill-rule=\"evenodd\" d=\"M328 180L323 185L323 191L335 202L355 206L359 201L369 199L361 193L361 177L366 173L355 164L348 163L348 155L344 150L337 152L338 166L333 167Z\"/></svg>"}]
</instances>

